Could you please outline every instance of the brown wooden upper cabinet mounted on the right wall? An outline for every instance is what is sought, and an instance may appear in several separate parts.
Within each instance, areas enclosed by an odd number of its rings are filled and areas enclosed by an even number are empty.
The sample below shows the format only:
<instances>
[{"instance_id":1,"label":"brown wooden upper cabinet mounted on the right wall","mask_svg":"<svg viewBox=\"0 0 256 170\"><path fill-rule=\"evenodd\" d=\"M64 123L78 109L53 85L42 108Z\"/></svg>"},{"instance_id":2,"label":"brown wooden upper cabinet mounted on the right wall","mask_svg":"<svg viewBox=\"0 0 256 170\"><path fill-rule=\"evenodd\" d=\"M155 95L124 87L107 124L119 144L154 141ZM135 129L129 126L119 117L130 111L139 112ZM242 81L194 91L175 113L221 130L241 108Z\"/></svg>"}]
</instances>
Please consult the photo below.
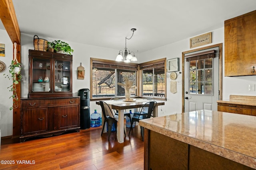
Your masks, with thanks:
<instances>
[{"instance_id":1,"label":"brown wooden upper cabinet mounted on the right wall","mask_svg":"<svg viewBox=\"0 0 256 170\"><path fill-rule=\"evenodd\" d=\"M224 25L225 76L256 75L256 10Z\"/></svg>"}]
</instances>

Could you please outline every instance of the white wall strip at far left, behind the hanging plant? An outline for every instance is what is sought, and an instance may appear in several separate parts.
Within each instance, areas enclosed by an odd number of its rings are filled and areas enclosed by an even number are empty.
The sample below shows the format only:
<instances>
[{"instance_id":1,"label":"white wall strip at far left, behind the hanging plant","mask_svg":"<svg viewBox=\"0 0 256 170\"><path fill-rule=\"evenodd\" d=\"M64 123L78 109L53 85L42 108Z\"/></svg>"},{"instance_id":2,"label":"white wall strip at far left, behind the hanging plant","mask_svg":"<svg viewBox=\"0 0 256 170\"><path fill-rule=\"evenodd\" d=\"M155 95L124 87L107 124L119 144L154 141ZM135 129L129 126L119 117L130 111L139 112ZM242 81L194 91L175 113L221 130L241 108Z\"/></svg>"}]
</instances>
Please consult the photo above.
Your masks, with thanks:
<instances>
[{"instance_id":1,"label":"white wall strip at far left, behind the hanging plant","mask_svg":"<svg viewBox=\"0 0 256 170\"><path fill-rule=\"evenodd\" d=\"M6 64L6 69L4 72L0 73L0 111L1 111L1 119L0 119L0 129L1 135L9 136L12 135L12 111L10 111L10 107L12 106L12 98L9 97L12 95L12 92L9 92L7 87L12 85L12 81L8 78L4 78L4 74L8 74L9 68L8 66L12 61L12 41L10 40L9 35L6 30L0 29L0 43L5 44L5 57L0 57L0 61Z\"/></svg>"}]
</instances>

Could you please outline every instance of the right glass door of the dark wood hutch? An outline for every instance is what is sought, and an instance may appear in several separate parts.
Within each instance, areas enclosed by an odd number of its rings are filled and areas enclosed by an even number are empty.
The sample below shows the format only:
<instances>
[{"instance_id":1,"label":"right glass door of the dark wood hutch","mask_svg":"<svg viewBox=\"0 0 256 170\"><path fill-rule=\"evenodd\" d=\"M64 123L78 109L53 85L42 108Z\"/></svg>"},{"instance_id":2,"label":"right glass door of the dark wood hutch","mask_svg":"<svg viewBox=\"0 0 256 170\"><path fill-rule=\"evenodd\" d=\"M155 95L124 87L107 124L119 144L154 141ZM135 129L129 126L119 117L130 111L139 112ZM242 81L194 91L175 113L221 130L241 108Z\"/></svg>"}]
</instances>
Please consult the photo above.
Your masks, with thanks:
<instances>
[{"instance_id":1,"label":"right glass door of the dark wood hutch","mask_svg":"<svg viewBox=\"0 0 256 170\"><path fill-rule=\"evenodd\" d=\"M54 92L70 91L70 61L55 60Z\"/></svg>"}]
</instances>

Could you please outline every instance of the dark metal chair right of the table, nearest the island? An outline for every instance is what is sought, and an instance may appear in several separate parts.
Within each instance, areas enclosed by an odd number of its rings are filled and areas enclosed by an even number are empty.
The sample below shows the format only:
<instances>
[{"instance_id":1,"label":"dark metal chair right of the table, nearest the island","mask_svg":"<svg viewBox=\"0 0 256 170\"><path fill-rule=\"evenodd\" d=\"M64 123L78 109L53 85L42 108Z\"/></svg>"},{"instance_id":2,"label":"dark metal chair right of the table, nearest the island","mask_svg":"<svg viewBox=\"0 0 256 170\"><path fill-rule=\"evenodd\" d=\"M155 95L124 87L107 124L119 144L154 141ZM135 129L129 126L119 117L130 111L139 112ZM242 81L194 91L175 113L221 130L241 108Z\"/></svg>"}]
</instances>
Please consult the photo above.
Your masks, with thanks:
<instances>
[{"instance_id":1,"label":"dark metal chair right of the table, nearest the island","mask_svg":"<svg viewBox=\"0 0 256 170\"><path fill-rule=\"evenodd\" d=\"M144 107L148 107L148 112L147 112L146 115L142 111ZM131 125L132 125L132 123L139 122L142 119L150 118L153 110L155 109L155 107L156 107L156 102L155 101L154 102L146 102L142 106L142 108L140 109L140 114L133 115L132 121L131 121ZM128 136L130 136L131 130L132 130L132 126L130 127L130 131L129 131L129 135ZM140 127L140 134L142 136L142 141L144 141L144 127Z\"/></svg>"}]
</instances>

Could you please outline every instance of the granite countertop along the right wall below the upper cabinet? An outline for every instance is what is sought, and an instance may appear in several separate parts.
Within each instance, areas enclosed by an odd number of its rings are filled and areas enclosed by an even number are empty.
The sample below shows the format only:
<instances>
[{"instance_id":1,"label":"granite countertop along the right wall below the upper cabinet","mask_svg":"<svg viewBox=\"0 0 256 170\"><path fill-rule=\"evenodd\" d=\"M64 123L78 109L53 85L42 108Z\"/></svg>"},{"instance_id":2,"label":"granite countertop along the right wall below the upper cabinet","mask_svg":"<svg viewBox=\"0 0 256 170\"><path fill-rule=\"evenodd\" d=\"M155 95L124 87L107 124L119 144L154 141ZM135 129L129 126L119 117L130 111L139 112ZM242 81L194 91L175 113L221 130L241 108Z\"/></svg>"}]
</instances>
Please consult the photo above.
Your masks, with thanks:
<instances>
[{"instance_id":1,"label":"granite countertop along the right wall below the upper cabinet","mask_svg":"<svg viewBox=\"0 0 256 170\"><path fill-rule=\"evenodd\" d=\"M218 100L217 103L241 104L241 105L247 105L247 106L256 106L256 96L230 95L229 99Z\"/></svg>"}]
</instances>

